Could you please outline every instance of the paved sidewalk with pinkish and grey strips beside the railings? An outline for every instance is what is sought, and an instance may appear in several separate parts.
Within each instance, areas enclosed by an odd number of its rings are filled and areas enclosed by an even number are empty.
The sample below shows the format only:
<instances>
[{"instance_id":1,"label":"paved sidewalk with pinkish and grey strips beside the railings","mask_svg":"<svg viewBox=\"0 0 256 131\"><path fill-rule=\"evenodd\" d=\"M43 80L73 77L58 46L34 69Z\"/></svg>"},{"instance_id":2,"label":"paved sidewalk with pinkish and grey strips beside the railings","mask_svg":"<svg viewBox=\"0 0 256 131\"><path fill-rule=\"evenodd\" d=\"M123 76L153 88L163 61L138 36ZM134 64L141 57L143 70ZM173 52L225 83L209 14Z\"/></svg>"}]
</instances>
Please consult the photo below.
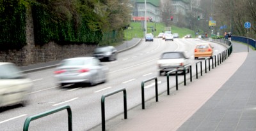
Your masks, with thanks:
<instances>
[{"instance_id":1,"label":"paved sidewalk with pinkish and grey strips beside the railings","mask_svg":"<svg viewBox=\"0 0 256 131\"><path fill-rule=\"evenodd\" d=\"M134 107L127 120L121 114L106 121L106 130L255 130L256 52L244 46L233 43L232 55L207 74L145 109Z\"/></svg>"}]
</instances>

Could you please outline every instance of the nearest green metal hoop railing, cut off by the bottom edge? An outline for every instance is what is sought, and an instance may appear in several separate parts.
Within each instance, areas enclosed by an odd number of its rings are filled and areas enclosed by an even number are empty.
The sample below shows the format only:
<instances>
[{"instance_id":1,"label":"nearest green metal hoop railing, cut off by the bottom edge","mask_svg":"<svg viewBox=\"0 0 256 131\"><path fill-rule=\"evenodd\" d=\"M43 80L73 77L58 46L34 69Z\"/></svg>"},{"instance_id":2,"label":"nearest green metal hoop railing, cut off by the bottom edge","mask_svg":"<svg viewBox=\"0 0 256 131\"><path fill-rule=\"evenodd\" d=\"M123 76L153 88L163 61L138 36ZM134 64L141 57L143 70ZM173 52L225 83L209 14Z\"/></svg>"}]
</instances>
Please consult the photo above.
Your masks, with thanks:
<instances>
[{"instance_id":1,"label":"nearest green metal hoop railing, cut off by the bottom edge","mask_svg":"<svg viewBox=\"0 0 256 131\"><path fill-rule=\"evenodd\" d=\"M25 120L25 123L24 123L24 126L23 126L23 131L28 131L30 121L42 118L44 116L48 116L48 115L53 114L53 113L57 113L57 112L62 111L64 109L67 109L67 113L68 113L68 131L72 131L72 111L71 111L70 106L67 106L67 105L57 107L55 109L51 109L50 111L45 111L44 113L29 116Z\"/></svg>"}]
</instances>

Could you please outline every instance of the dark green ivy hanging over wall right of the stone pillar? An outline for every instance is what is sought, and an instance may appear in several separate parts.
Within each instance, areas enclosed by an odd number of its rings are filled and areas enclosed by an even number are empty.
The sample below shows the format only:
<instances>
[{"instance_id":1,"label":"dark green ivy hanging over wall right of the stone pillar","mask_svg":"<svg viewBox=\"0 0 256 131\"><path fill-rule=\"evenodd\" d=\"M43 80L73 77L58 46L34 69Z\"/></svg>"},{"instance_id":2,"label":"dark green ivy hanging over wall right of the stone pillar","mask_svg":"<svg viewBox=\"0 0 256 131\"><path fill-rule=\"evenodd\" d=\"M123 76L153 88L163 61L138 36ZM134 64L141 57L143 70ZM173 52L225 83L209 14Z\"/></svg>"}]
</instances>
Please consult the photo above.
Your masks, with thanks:
<instances>
[{"instance_id":1,"label":"dark green ivy hanging over wall right of the stone pillar","mask_svg":"<svg viewBox=\"0 0 256 131\"><path fill-rule=\"evenodd\" d=\"M34 4L32 13L36 44L42 45L49 41L55 41L59 44L97 44L102 38L100 29L90 29L86 18L81 18L81 22L76 26L76 19L56 19L53 17L54 14L42 4Z\"/></svg>"}]
</instances>

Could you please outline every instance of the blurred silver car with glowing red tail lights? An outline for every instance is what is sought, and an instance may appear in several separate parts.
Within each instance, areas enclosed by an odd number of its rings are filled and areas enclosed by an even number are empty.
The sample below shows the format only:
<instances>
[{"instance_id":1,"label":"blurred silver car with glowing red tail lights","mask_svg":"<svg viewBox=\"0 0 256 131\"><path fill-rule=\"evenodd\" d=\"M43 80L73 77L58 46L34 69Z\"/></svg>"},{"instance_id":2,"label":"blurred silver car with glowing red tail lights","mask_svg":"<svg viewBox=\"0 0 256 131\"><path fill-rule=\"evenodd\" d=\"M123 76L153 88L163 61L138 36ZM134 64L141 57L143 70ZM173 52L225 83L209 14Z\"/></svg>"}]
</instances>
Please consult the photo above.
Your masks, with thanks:
<instances>
[{"instance_id":1,"label":"blurred silver car with glowing red tail lights","mask_svg":"<svg viewBox=\"0 0 256 131\"><path fill-rule=\"evenodd\" d=\"M95 57L76 57L60 62L54 72L60 86L89 83L91 86L107 80L108 67Z\"/></svg>"}]
</instances>

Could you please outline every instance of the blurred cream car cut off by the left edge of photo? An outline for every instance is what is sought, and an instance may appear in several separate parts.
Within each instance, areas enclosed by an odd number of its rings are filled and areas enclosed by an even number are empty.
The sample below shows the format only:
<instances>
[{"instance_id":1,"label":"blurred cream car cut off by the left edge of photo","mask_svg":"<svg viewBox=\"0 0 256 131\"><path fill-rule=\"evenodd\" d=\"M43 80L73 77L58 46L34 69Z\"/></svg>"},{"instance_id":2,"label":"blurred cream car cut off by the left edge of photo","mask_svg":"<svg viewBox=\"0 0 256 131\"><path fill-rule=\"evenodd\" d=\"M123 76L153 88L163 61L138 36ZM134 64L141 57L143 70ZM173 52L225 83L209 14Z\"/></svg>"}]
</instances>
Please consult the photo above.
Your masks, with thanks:
<instances>
[{"instance_id":1,"label":"blurred cream car cut off by the left edge of photo","mask_svg":"<svg viewBox=\"0 0 256 131\"><path fill-rule=\"evenodd\" d=\"M33 83L26 78L17 65L0 62L0 107L28 102Z\"/></svg>"}]
</instances>

